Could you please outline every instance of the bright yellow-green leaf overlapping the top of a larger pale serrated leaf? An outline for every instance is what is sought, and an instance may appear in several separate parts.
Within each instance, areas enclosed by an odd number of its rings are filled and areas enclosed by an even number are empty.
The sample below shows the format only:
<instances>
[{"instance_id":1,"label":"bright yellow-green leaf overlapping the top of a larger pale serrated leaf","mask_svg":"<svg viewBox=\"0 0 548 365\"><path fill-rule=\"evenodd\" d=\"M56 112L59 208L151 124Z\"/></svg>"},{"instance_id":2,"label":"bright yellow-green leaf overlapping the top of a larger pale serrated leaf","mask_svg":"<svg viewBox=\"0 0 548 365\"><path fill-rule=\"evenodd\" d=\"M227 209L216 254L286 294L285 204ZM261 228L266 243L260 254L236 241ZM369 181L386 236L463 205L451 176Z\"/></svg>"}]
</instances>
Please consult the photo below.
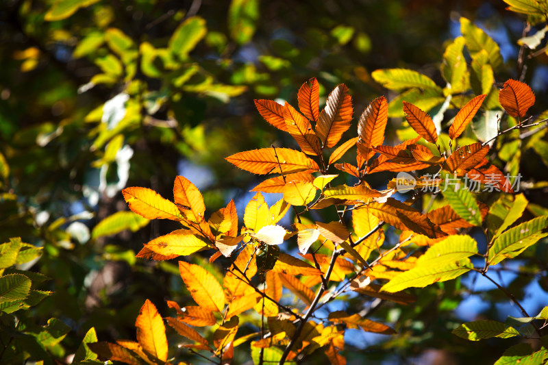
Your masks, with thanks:
<instances>
[{"instance_id":1,"label":"bright yellow-green leaf overlapping the top of a larger pale serrated leaf","mask_svg":"<svg viewBox=\"0 0 548 365\"><path fill-rule=\"evenodd\" d=\"M417 266L446 266L466 257L477 254L477 242L470 236L449 236L430 247L419 260Z\"/></svg>"}]
</instances>

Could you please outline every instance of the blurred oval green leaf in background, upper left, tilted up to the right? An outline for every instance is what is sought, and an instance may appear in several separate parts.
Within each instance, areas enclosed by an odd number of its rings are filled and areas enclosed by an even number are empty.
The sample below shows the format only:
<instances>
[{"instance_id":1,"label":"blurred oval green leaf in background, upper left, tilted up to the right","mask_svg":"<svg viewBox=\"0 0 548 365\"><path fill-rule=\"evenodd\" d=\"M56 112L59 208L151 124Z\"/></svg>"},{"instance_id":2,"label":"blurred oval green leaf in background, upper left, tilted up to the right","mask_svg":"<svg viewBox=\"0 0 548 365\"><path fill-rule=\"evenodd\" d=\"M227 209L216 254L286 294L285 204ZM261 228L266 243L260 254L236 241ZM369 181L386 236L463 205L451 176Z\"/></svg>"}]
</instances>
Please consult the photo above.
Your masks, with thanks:
<instances>
[{"instance_id":1,"label":"blurred oval green leaf in background, upper left, tilted up to the right","mask_svg":"<svg viewBox=\"0 0 548 365\"><path fill-rule=\"evenodd\" d=\"M191 16L173 32L169 40L171 53L178 55L182 60L186 59L188 53L206 36L207 32L206 21L199 16Z\"/></svg>"}]
</instances>

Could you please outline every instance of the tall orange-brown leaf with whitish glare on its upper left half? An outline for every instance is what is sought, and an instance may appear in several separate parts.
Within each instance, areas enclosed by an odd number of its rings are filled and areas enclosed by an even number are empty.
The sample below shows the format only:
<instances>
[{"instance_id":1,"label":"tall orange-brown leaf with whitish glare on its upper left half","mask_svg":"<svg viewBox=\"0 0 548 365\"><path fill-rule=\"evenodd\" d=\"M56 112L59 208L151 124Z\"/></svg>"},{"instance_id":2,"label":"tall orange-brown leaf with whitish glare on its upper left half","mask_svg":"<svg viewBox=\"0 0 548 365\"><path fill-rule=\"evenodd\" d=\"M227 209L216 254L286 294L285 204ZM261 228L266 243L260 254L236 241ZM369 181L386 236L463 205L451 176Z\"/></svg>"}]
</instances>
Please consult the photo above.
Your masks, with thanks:
<instances>
[{"instance_id":1,"label":"tall orange-brown leaf with whitish glare on its upper left half","mask_svg":"<svg viewBox=\"0 0 548 365\"><path fill-rule=\"evenodd\" d=\"M337 144L350 127L352 113L352 98L348 95L348 88L345 84L340 84L327 97L325 108L316 124L316 135L323 143L323 148L331 148Z\"/></svg>"}]
</instances>

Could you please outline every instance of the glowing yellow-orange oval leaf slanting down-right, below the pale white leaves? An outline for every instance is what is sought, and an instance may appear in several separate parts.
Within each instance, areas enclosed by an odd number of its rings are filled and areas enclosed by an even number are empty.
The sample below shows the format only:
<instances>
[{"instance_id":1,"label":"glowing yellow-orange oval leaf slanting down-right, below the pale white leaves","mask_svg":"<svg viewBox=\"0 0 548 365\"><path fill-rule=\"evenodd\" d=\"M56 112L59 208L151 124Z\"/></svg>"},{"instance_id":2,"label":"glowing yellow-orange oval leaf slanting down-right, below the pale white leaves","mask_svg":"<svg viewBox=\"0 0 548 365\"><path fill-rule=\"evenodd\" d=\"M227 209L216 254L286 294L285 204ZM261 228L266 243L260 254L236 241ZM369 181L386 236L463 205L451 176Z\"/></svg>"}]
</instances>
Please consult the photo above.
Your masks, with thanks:
<instances>
[{"instance_id":1,"label":"glowing yellow-orange oval leaf slanting down-right, below the pale white leaves","mask_svg":"<svg viewBox=\"0 0 548 365\"><path fill-rule=\"evenodd\" d=\"M205 268L179 261L179 273L192 295L192 299L201 307L212 312L221 312L225 305L223 287Z\"/></svg>"}]
</instances>

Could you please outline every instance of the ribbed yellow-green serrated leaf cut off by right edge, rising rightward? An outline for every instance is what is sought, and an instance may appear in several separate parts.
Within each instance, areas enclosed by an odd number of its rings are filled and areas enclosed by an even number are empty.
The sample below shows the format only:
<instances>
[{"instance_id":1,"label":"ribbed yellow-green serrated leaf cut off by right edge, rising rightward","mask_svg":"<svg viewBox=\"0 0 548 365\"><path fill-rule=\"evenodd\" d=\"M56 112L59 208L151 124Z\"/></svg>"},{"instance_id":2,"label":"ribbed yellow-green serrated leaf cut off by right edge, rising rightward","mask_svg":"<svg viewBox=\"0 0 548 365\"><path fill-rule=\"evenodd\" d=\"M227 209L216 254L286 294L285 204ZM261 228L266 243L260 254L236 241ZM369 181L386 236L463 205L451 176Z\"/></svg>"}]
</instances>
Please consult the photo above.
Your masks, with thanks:
<instances>
[{"instance_id":1,"label":"ribbed yellow-green serrated leaf cut off by right edge, rising rightward","mask_svg":"<svg viewBox=\"0 0 548 365\"><path fill-rule=\"evenodd\" d=\"M540 238L548 236L548 216L539 216L501 234L489 249L489 264L516 257Z\"/></svg>"}]
</instances>

